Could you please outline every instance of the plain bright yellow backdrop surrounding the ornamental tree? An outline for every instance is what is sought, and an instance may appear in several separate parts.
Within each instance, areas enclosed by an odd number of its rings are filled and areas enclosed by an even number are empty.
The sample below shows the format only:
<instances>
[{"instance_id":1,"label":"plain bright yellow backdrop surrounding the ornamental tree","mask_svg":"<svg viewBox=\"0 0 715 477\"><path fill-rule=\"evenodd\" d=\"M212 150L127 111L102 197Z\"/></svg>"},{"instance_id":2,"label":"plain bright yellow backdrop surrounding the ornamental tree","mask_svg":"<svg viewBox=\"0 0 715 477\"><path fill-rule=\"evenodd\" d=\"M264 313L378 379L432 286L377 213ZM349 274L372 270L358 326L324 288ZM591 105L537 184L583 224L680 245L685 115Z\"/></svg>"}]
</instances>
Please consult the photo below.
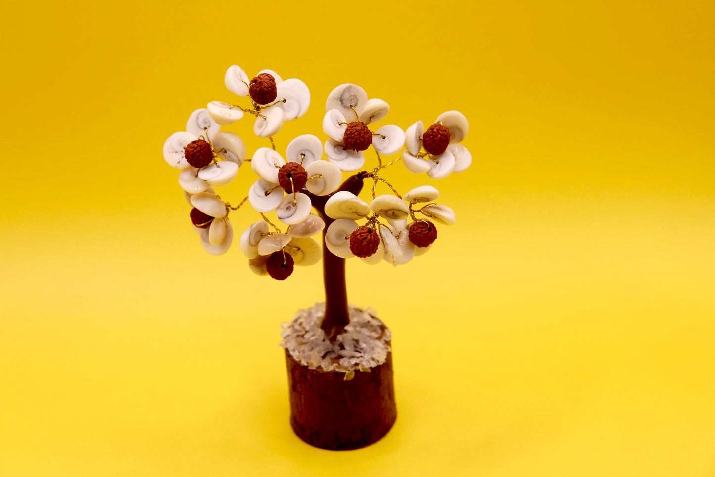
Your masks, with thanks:
<instances>
[{"instance_id":1,"label":"plain bright yellow backdrop surrounding the ornamental tree","mask_svg":"<svg viewBox=\"0 0 715 477\"><path fill-rule=\"evenodd\" d=\"M0 475L714 476L714 4L302 3L0 4ZM278 324L320 266L206 254L162 159L234 100L231 64L310 87L278 150L322 137L343 82L383 124L470 120L472 168L430 181L456 226L348 265L394 333L398 421L370 448L288 424Z\"/></svg>"}]
</instances>

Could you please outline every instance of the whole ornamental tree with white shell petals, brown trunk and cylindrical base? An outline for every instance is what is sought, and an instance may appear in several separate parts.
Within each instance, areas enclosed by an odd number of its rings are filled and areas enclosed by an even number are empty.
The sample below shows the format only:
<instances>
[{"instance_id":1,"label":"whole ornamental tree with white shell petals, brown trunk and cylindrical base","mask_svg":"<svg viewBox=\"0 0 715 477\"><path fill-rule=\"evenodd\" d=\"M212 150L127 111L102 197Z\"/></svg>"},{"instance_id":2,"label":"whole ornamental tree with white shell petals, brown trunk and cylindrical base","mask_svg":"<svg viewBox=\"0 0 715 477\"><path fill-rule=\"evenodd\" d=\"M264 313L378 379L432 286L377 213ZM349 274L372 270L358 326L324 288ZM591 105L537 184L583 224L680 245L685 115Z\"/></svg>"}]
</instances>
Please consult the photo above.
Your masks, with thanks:
<instances>
[{"instance_id":1,"label":"whole ornamental tree with white shell petals, brown trunk and cylindrical base","mask_svg":"<svg viewBox=\"0 0 715 477\"><path fill-rule=\"evenodd\" d=\"M294 266L316 264L322 256L325 304L300 310L281 334L291 424L302 440L320 448L369 445L388 433L397 415L391 334L370 309L348 305L345 259L405 264L433 246L435 222L455 223L452 209L435 203L440 195L436 188L420 186L401 195L383 171L398 162L433 179L465 170L471 155L459 143L467 135L468 122L460 112L448 111L427 130L421 121L406 131L396 125L373 130L390 106L368 99L357 85L345 84L327 96L325 144L315 135L300 135L288 143L284 158L273 136L283 122L307 112L310 91L305 83L283 81L269 69L249 79L234 65L225 74L225 85L248 97L250 105L212 101L194 111L186 131L167 138L164 159L181 169L179 186L193 207L189 218L210 254L229 249L233 228L228 215L248 201L260 220L242 233L240 249L256 274L285 280ZM220 130L246 114L255 116L254 133L270 140L270 148L258 148L251 159L238 135ZM363 151L370 148L376 165L363 169ZM327 160L322 160L323 150ZM383 156L400 151L398 158L383 163ZM231 183L245 162L258 178L232 206L215 187ZM343 181L344 172L353 174ZM358 197L365 181L372 183L370 203ZM378 185L390 193L376 194ZM287 226L285 232L268 213ZM321 231L322 247L312 238Z\"/></svg>"}]
</instances>

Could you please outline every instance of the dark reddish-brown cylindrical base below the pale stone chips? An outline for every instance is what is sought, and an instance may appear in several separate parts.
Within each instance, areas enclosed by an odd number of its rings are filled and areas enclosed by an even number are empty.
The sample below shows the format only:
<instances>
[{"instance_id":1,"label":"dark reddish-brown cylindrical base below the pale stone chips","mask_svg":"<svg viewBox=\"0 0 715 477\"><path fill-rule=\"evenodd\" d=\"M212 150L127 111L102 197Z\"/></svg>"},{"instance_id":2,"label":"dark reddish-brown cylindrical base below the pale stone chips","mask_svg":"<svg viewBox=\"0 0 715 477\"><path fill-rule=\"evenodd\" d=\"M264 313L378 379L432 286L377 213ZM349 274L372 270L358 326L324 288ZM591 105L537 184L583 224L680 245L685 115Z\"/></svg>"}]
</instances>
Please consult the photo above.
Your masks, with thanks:
<instances>
[{"instance_id":1,"label":"dark reddish-brown cylindrical base below the pale stone chips","mask_svg":"<svg viewBox=\"0 0 715 477\"><path fill-rule=\"evenodd\" d=\"M311 370L286 350L290 424L310 445L330 450L358 449L380 440L397 418L393 357L370 372Z\"/></svg>"}]
</instances>

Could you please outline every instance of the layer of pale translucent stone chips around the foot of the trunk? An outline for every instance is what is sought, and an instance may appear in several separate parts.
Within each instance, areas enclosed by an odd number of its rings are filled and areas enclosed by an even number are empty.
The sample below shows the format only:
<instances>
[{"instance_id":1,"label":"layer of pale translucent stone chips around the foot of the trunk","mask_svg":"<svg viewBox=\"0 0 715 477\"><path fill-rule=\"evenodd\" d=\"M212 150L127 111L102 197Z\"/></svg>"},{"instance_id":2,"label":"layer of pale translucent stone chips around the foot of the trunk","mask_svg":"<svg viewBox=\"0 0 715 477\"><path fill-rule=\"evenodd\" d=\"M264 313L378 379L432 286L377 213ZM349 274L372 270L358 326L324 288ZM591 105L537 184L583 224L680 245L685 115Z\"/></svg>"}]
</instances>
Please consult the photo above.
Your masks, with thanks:
<instances>
[{"instance_id":1,"label":"layer of pale translucent stone chips around the foot of the trunk","mask_svg":"<svg viewBox=\"0 0 715 477\"><path fill-rule=\"evenodd\" d=\"M382 365L390 352L390 330L375 317L372 309L350 306L350 324L335 341L320 329L325 304L301 309L292 322L282 324L280 346L311 370L355 372Z\"/></svg>"}]
</instances>

